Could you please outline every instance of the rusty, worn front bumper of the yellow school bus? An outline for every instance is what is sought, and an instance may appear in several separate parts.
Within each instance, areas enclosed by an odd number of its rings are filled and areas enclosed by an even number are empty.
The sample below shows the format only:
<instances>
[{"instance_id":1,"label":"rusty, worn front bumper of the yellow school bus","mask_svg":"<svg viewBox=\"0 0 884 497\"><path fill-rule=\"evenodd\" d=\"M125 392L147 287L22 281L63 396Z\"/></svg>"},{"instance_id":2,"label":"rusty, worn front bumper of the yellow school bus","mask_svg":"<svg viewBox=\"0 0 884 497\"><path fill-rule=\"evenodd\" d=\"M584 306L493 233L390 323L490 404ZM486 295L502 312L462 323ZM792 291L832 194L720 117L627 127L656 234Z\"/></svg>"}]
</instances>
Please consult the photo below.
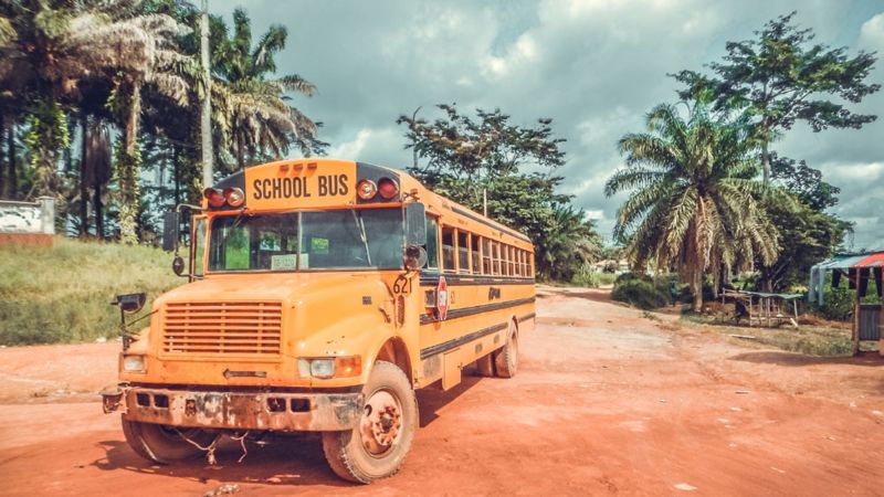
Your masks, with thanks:
<instances>
[{"instance_id":1,"label":"rusty, worn front bumper of the yellow school bus","mask_svg":"<svg viewBox=\"0 0 884 497\"><path fill-rule=\"evenodd\" d=\"M127 421L202 429L341 431L362 413L361 393L204 392L119 385L104 411Z\"/></svg>"}]
</instances>

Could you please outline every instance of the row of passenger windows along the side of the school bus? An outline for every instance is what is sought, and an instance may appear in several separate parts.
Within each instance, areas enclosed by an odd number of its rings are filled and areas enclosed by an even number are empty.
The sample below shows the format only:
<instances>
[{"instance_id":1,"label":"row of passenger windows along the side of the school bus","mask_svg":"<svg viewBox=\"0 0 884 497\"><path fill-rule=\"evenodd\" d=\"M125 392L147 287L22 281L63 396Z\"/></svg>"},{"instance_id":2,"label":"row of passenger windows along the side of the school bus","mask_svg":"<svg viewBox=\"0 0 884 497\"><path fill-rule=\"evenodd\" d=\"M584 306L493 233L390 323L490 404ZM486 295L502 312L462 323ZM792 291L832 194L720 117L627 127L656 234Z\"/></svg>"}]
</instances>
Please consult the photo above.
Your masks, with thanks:
<instances>
[{"instance_id":1,"label":"row of passenger windows along the side of the school bus","mask_svg":"<svg viewBox=\"0 0 884 497\"><path fill-rule=\"evenodd\" d=\"M436 219L428 215L428 268L445 273L493 276L534 275L534 263L529 252L444 224L441 230L442 260L440 261L438 226Z\"/></svg>"}]
</instances>

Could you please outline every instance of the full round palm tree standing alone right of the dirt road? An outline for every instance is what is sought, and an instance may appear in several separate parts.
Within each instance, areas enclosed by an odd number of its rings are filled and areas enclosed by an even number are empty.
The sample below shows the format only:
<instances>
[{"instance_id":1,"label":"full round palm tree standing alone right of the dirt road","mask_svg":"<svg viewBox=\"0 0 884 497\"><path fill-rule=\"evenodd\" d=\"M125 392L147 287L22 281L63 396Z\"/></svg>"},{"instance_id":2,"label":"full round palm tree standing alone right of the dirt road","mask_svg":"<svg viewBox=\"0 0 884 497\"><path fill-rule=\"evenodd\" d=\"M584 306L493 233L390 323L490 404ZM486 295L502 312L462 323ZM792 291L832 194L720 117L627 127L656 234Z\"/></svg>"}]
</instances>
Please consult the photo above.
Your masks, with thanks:
<instances>
[{"instance_id":1,"label":"full round palm tree standing alone right of the dirt road","mask_svg":"<svg viewBox=\"0 0 884 497\"><path fill-rule=\"evenodd\" d=\"M608 180L606 194L630 191L618 210L614 239L639 271L677 267L703 306L703 276L724 266L776 260L777 230L757 202L768 190L755 177L757 142L743 119L714 118L704 103L685 120L671 105L648 115L649 133L619 141L625 166Z\"/></svg>"}]
</instances>

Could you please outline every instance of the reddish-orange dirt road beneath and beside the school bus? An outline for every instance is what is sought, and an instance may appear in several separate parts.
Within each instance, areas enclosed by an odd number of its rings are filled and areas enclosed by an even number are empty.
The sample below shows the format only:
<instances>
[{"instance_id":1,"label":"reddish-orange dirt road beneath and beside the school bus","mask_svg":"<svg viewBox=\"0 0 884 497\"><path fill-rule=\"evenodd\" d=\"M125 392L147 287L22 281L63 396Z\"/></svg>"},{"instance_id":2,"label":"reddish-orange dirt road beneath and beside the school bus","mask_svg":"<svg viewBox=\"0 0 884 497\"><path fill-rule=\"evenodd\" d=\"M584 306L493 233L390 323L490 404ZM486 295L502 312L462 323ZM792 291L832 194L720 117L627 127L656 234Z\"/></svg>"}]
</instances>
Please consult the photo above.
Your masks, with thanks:
<instances>
[{"instance_id":1,"label":"reddish-orange dirt road beneath and beside the school bus","mask_svg":"<svg viewBox=\"0 0 884 497\"><path fill-rule=\"evenodd\" d=\"M746 349L716 332L550 290L512 380L421 391L399 494L882 495L884 360ZM316 438L151 465L94 392L116 343L0 350L0 495L350 494Z\"/></svg>"}]
</instances>

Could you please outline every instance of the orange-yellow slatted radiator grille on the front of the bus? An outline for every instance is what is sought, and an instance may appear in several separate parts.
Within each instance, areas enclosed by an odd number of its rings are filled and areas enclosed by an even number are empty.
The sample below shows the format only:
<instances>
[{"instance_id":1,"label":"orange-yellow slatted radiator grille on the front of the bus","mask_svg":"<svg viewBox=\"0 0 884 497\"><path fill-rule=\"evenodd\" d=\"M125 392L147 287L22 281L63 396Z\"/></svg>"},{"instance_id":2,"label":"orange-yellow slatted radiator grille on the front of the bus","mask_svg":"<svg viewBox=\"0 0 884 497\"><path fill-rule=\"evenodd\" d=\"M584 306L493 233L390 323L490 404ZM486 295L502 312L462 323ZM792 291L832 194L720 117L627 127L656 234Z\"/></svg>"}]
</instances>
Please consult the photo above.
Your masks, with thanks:
<instances>
[{"instance_id":1,"label":"orange-yellow slatted radiator grille on the front of the bus","mask_svg":"<svg viewBox=\"0 0 884 497\"><path fill-rule=\"evenodd\" d=\"M162 322L167 355L276 356L282 303L168 303Z\"/></svg>"}]
</instances>

